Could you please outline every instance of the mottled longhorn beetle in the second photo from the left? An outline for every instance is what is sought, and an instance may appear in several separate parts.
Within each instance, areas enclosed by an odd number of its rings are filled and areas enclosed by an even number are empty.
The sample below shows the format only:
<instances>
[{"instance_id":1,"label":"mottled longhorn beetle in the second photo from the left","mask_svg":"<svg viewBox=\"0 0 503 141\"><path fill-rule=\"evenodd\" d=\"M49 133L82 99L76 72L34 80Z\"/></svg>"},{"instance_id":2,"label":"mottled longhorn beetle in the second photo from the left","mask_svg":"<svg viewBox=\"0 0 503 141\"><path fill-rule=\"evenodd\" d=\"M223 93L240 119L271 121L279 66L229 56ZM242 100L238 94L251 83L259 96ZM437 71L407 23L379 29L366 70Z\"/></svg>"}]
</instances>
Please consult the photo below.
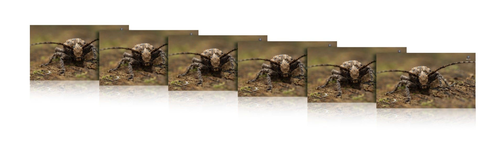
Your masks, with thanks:
<instances>
[{"instance_id":1,"label":"mottled longhorn beetle in the second photo from the left","mask_svg":"<svg viewBox=\"0 0 503 141\"><path fill-rule=\"evenodd\" d=\"M167 45L167 43L159 46L159 47L156 47L154 48L152 45L148 44L148 43L142 43L142 44L137 44L135 45L133 48L125 48L125 47L110 47L110 48L103 48L103 49L100 49L101 50L107 50L107 49L127 49L127 50L131 50L131 54L127 53L127 52L124 52L124 54L122 54L124 56L124 58L122 58L119 63L117 64L117 67L115 68L112 68L110 70L108 70L108 72L112 72L112 71L115 71L117 69L119 69L119 67L121 66L121 64L124 62L124 61L127 61L128 62L128 68L129 68L129 78L128 80L131 80L133 79L133 66L132 65L140 65L140 66L147 66L147 67L152 67L152 61L154 59L156 59L157 57L161 56L162 58L162 63L161 64L157 64L155 66L160 66L160 67L164 67L164 58L166 57L166 53L164 53L164 51L162 51L162 49L160 49L161 47Z\"/></svg>"}]
</instances>

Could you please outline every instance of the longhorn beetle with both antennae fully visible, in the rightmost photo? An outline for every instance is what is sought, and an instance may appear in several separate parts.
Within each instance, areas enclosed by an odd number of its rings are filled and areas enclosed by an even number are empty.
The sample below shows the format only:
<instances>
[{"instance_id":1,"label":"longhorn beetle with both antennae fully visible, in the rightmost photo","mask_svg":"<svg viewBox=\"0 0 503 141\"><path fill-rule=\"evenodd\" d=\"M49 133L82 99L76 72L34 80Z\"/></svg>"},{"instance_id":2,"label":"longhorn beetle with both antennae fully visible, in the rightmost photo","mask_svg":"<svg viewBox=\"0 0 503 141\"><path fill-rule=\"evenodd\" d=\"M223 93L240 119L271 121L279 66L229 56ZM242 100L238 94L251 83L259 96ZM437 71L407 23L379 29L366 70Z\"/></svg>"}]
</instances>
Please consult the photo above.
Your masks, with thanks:
<instances>
[{"instance_id":1,"label":"longhorn beetle with both antennae fully visible, in the rightmost photo","mask_svg":"<svg viewBox=\"0 0 503 141\"><path fill-rule=\"evenodd\" d=\"M409 88L420 88L420 89L427 89L428 85L430 85L433 81L439 80L440 87L442 87L442 81L447 85L447 89L450 89L449 83L447 83L447 80L444 78L444 76L440 75L437 71L447 67L449 65L453 64L458 64L458 63L471 63L475 61L460 61L460 62L453 62L447 65L443 65L435 70L431 70L430 68L426 66L416 66L413 67L410 71L405 71L405 70L383 70L381 72L377 72L377 74L384 73L384 72L403 72L409 74L409 77L405 76L400 76L400 82L396 84L395 89L393 91L387 92L386 95L394 93L400 85L405 85L405 92L407 94L407 100L405 102L410 102L410 92Z\"/></svg>"}]
</instances>

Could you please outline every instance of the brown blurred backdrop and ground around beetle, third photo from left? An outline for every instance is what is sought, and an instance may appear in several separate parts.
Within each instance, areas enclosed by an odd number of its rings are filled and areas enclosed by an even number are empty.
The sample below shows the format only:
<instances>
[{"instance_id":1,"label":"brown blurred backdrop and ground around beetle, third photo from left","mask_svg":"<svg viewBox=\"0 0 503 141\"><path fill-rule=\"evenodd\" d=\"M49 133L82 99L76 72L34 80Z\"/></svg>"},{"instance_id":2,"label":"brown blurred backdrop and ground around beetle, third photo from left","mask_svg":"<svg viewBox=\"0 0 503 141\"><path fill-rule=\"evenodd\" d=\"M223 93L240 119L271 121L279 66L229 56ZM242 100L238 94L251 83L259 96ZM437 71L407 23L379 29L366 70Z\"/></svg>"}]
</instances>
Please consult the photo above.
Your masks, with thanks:
<instances>
[{"instance_id":1,"label":"brown blurred backdrop and ground around beetle, third photo from left","mask_svg":"<svg viewBox=\"0 0 503 141\"><path fill-rule=\"evenodd\" d=\"M202 53L206 49L217 48L226 53L237 48L238 41L259 41L267 42L267 35L219 35L219 36L170 36L168 54L179 52ZM229 55L237 59L237 51ZM201 59L199 55L180 54L169 57L168 82L170 91L236 91L235 73L221 72L220 74L202 71L203 84L197 86L198 77L195 69L192 69L186 76L177 78L186 72L187 67L192 64L192 58ZM237 64L234 64L236 67ZM230 62L222 66L222 69L229 69ZM187 85L181 85L186 84Z\"/></svg>"}]
</instances>

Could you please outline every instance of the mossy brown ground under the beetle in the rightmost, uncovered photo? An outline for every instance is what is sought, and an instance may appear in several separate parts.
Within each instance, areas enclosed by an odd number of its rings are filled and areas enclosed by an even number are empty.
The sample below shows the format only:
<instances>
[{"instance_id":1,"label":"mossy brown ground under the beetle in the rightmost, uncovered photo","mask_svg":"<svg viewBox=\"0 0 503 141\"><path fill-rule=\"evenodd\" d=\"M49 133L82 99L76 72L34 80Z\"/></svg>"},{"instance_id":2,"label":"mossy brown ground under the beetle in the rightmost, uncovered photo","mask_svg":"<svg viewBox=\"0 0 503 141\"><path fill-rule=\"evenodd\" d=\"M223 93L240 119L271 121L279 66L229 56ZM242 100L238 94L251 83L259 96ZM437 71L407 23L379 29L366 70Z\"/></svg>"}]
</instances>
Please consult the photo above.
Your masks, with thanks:
<instances>
[{"instance_id":1,"label":"mossy brown ground under the beetle in the rightmost, uncovered photo","mask_svg":"<svg viewBox=\"0 0 503 141\"><path fill-rule=\"evenodd\" d=\"M440 88L436 80L428 90L411 88L410 103L405 103L407 97L403 86L395 93L385 95L400 80L399 73L379 74L379 82L389 87L377 88L377 108L475 108L475 74L464 70L441 72L449 84L455 83L454 86L450 90Z\"/></svg>"}]
</instances>

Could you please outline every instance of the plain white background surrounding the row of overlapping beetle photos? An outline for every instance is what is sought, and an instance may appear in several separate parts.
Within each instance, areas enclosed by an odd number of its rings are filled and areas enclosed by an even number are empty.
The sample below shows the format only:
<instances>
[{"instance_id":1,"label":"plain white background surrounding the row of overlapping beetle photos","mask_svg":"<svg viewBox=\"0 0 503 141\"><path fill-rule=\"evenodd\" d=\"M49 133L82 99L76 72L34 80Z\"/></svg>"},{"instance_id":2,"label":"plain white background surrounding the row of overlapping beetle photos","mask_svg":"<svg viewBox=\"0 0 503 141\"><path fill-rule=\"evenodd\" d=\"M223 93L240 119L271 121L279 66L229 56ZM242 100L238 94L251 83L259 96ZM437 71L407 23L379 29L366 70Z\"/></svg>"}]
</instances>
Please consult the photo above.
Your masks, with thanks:
<instances>
[{"instance_id":1,"label":"plain white background surrounding the row of overlapping beetle photos","mask_svg":"<svg viewBox=\"0 0 503 141\"><path fill-rule=\"evenodd\" d=\"M0 71L4 91L0 94L0 140L473 140L498 137L502 120L501 7L501 1L3 2ZM400 112L396 112L397 117L405 118L396 118L393 123L392 117L380 120L379 115L372 116L376 111L368 110L369 106L343 105L332 118L313 123L316 118L306 116L305 109L282 107L281 100L271 109L266 106L259 110L241 108L241 99L235 105L215 105L212 100L221 97L211 96L206 98L211 99L210 102L204 102L202 97L203 102L187 107L135 103L134 99L124 105L105 105L96 95L83 99L64 95L30 99L29 25L41 24L130 25L131 30L199 30L200 35L269 35L269 41L338 41L340 47L405 46L407 52L476 52L476 123L475 116L457 122L457 116L466 114L459 109L407 112L405 115L409 116L399 116ZM225 98L230 103L238 101ZM188 101L190 99L188 97ZM169 101L172 102L171 96ZM361 113L348 112L345 107ZM283 111L284 108L287 110ZM425 115L417 118L416 113ZM435 118L420 120L423 117ZM415 122L416 119L423 122Z\"/></svg>"}]
</instances>

